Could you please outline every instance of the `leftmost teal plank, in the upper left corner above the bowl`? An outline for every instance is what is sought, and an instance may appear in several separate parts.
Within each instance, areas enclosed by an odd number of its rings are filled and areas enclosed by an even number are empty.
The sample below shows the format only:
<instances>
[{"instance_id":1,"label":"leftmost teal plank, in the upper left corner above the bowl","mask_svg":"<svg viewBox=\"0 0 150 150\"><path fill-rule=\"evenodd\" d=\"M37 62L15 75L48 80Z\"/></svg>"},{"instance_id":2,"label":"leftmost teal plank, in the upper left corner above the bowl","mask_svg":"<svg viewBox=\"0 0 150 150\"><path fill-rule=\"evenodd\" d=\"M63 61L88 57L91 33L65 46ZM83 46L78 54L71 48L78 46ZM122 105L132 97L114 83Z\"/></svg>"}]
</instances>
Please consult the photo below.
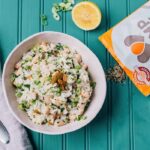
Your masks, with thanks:
<instances>
[{"instance_id":1,"label":"leftmost teal plank, in the upper left corner above the bowl","mask_svg":"<svg viewBox=\"0 0 150 150\"><path fill-rule=\"evenodd\" d=\"M4 63L8 54L18 42L17 11L17 0L13 2L9 0L0 1L0 61L2 61L2 63Z\"/></svg>"}]
</instances>

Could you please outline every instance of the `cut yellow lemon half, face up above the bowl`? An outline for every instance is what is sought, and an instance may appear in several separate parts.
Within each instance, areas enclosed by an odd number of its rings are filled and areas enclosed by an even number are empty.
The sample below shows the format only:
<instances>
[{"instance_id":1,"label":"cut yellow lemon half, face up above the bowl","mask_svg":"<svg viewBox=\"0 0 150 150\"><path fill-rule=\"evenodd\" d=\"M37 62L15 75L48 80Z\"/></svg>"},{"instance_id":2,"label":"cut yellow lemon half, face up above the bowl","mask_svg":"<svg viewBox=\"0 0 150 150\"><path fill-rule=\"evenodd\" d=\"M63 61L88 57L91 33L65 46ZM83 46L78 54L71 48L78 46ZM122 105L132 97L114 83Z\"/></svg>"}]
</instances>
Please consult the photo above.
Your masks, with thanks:
<instances>
[{"instance_id":1,"label":"cut yellow lemon half, face up above the bowl","mask_svg":"<svg viewBox=\"0 0 150 150\"><path fill-rule=\"evenodd\" d=\"M72 10L74 23L83 30L93 30L100 25L101 11L93 2L80 2Z\"/></svg>"}]
</instances>

